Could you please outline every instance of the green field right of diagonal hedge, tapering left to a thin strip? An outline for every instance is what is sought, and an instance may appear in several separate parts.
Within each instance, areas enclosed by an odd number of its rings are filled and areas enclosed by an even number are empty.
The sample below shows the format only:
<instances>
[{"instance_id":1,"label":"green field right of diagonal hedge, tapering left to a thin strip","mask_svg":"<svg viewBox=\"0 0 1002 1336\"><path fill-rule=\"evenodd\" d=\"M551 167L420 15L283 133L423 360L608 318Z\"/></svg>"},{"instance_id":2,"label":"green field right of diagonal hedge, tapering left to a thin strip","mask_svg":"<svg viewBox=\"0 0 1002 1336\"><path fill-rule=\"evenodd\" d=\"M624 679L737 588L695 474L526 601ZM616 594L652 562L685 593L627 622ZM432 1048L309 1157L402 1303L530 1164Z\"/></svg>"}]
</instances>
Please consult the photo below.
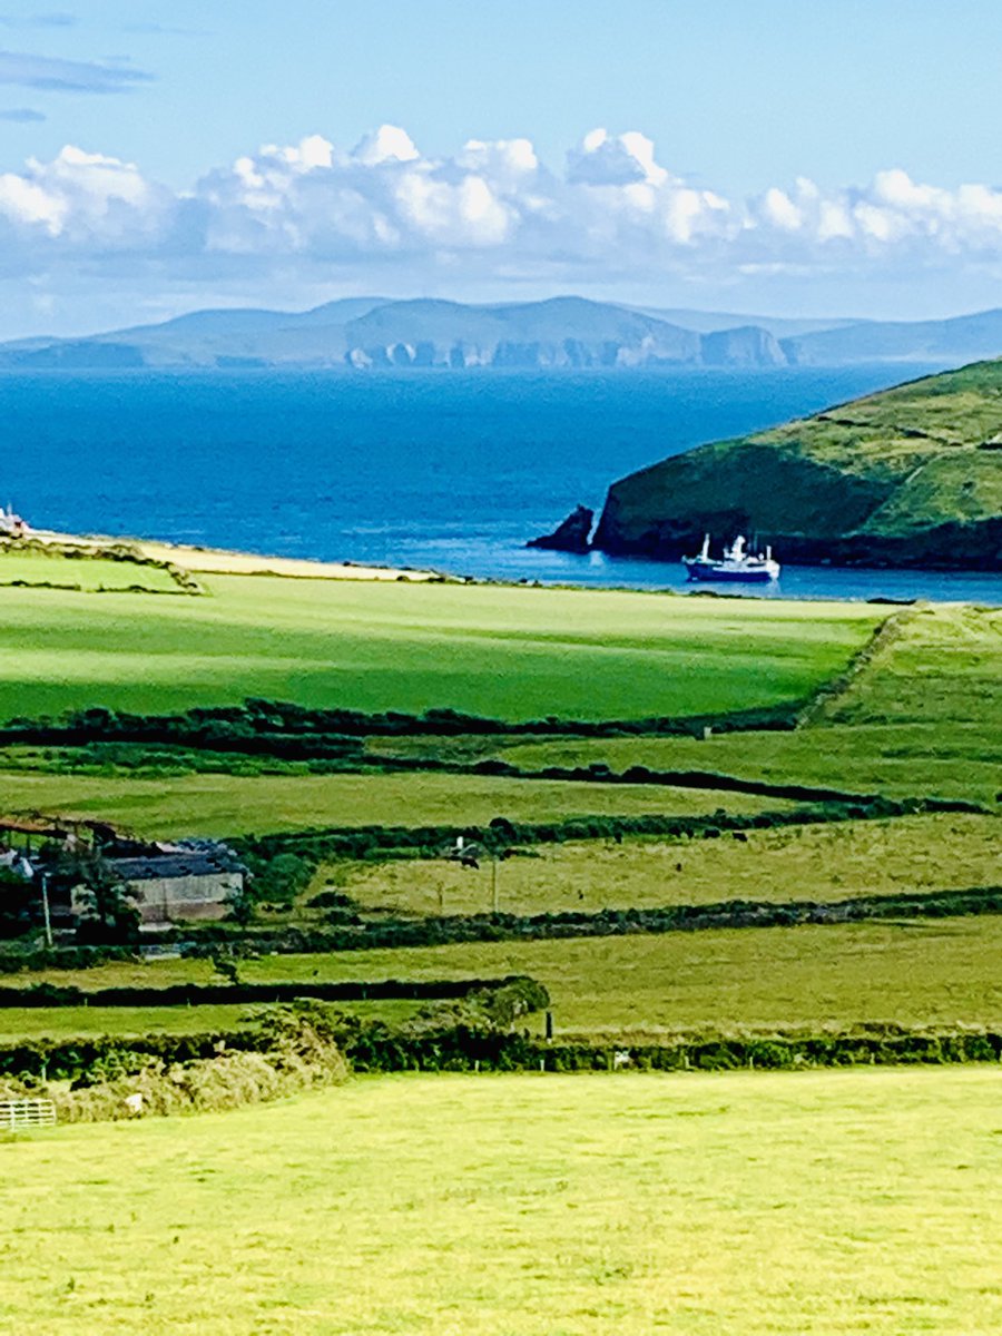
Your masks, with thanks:
<instances>
[{"instance_id":1,"label":"green field right of diagonal hedge, tapering left to a thin strip","mask_svg":"<svg viewBox=\"0 0 1002 1336\"><path fill-rule=\"evenodd\" d=\"M859 794L994 803L1002 791L1002 612L910 613L898 639L796 732L695 737L373 737L382 755L500 756L525 770L708 770Z\"/></svg>"}]
</instances>

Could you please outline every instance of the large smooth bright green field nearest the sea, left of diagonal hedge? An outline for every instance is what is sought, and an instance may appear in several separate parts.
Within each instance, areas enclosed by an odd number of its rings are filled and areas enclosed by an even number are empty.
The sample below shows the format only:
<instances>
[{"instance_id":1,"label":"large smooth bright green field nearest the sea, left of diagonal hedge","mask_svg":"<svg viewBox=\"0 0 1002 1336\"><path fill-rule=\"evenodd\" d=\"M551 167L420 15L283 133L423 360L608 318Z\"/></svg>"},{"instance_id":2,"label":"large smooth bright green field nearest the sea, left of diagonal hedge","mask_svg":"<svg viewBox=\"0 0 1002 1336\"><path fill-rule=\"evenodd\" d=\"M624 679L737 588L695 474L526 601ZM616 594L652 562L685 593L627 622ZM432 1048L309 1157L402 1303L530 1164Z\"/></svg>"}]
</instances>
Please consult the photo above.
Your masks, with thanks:
<instances>
[{"instance_id":1,"label":"large smooth bright green field nearest the sea, left of diagonal hedge","mask_svg":"<svg viewBox=\"0 0 1002 1336\"><path fill-rule=\"evenodd\" d=\"M99 600L0 588L0 719L246 696L513 720L741 709L807 697L880 620L866 605L493 585L204 585Z\"/></svg>"}]
</instances>

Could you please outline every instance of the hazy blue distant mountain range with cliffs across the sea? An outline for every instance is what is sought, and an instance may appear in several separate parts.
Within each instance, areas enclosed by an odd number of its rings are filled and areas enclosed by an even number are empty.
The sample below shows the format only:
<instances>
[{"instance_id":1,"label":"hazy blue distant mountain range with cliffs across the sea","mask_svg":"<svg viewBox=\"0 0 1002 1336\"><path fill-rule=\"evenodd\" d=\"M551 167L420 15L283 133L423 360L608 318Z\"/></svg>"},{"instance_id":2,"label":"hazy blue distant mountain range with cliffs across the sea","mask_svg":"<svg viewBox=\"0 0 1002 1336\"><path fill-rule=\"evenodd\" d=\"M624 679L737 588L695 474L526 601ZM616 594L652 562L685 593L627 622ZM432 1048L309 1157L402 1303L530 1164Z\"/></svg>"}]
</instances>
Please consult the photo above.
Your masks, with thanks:
<instances>
[{"instance_id":1,"label":"hazy blue distant mountain range with cliffs across the sea","mask_svg":"<svg viewBox=\"0 0 1002 1336\"><path fill-rule=\"evenodd\" d=\"M580 297L472 306L350 297L210 310L87 338L0 343L0 369L959 366L1002 355L1002 310L945 321L772 319Z\"/></svg>"}]
</instances>

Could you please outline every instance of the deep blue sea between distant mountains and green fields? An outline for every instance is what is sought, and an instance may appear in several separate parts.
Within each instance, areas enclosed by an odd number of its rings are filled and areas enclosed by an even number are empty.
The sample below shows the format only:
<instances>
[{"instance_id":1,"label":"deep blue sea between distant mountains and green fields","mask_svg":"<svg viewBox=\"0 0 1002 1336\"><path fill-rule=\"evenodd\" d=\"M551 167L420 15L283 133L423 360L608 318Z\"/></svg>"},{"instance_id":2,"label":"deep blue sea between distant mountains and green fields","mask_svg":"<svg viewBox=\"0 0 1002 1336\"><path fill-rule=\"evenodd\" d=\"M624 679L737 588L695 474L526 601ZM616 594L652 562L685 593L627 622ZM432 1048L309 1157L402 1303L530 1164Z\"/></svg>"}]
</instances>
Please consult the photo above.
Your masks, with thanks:
<instances>
[{"instance_id":1,"label":"deep blue sea between distant mountains and green fields","mask_svg":"<svg viewBox=\"0 0 1002 1336\"><path fill-rule=\"evenodd\" d=\"M683 588L675 562L525 542L656 460L931 370L3 373L0 501L72 533ZM1002 574L786 566L764 593L1002 604Z\"/></svg>"}]
</instances>

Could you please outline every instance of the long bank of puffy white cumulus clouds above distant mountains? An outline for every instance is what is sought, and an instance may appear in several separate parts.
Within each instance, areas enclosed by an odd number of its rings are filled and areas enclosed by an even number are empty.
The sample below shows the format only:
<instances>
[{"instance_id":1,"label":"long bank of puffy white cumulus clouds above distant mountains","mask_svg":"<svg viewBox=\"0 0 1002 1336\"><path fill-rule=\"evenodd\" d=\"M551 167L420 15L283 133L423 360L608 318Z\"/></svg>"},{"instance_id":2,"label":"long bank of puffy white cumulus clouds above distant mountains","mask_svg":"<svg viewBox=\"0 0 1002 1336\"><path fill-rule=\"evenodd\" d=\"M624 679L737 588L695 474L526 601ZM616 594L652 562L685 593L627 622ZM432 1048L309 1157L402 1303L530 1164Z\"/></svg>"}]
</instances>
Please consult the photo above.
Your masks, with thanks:
<instances>
[{"instance_id":1,"label":"long bank of puffy white cumulus clouds above distant mountains","mask_svg":"<svg viewBox=\"0 0 1002 1336\"><path fill-rule=\"evenodd\" d=\"M3 69L0 56L0 80ZM67 262L262 287L278 274L378 285L390 271L406 273L411 290L485 273L607 287L867 275L1002 266L1002 188L946 188L888 168L863 186L802 176L741 199L677 175L637 131L595 130L553 171L528 139L470 139L433 156L403 128L381 126L354 147L319 134L265 144L184 191L67 146L0 175L0 243L8 273L52 274Z\"/></svg>"}]
</instances>

